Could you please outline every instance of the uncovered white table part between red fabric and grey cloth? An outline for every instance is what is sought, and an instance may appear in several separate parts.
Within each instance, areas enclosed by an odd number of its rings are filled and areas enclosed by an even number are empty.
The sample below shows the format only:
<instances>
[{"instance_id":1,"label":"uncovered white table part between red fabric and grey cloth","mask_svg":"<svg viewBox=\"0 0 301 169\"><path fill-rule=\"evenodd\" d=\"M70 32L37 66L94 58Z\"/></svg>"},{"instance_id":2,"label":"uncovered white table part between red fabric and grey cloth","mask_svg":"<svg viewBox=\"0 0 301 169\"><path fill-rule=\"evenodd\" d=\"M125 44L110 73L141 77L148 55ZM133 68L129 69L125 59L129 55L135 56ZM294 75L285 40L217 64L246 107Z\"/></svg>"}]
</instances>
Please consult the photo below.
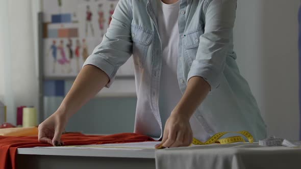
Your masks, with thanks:
<instances>
[{"instance_id":1,"label":"uncovered white table part between red fabric and grey cloth","mask_svg":"<svg viewBox=\"0 0 301 169\"><path fill-rule=\"evenodd\" d=\"M154 169L155 150L19 148L17 168Z\"/></svg>"}]
</instances>

